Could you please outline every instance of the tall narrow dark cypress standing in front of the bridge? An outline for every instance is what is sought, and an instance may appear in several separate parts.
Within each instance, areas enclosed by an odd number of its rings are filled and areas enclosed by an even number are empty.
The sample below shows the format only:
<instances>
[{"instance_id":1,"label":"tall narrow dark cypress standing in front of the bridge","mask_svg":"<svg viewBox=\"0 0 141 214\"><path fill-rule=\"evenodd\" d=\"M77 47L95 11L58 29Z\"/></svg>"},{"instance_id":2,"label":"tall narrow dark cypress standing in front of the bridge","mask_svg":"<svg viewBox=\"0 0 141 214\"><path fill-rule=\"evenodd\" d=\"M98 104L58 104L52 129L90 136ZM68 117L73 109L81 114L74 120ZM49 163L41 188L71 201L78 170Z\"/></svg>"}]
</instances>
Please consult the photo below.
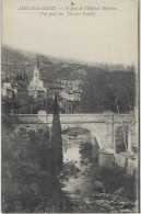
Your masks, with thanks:
<instances>
[{"instance_id":1,"label":"tall narrow dark cypress standing in front of the bridge","mask_svg":"<svg viewBox=\"0 0 141 214\"><path fill-rule=\"evenodd\" d=\"M51 127L51 155L52 155L52 168L61 170L62 169L62 138L61 138L61 124L59 116L59 106L57 101L57 94L55 95L54 104L54 119Z\"/></svg>"}]
</instances>

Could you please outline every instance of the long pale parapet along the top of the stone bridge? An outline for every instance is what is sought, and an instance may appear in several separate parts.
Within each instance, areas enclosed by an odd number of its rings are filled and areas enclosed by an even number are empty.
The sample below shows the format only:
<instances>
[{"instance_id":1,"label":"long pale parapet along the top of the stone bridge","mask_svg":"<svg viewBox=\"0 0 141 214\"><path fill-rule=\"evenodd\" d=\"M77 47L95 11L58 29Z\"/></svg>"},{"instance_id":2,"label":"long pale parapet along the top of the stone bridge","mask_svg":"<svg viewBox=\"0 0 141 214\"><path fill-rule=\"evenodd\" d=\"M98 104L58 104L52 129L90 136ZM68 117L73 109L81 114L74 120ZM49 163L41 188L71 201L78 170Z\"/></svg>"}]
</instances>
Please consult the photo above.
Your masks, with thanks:
<instances>
[{"instance_id":1,"label":"long pale parapet along the top of the stone bridge","mask_svg":"<svg viewBox=\"0 0 141 214\"><path fill-rule=\"evenodd\" d=\"M22 121L36 121L50 124L52 114L12 114L11 119L20 119ZM80 124L80 123L136 123L136 116L131 114L60 114L62 124Z\"/></svg>"}]
</instances>

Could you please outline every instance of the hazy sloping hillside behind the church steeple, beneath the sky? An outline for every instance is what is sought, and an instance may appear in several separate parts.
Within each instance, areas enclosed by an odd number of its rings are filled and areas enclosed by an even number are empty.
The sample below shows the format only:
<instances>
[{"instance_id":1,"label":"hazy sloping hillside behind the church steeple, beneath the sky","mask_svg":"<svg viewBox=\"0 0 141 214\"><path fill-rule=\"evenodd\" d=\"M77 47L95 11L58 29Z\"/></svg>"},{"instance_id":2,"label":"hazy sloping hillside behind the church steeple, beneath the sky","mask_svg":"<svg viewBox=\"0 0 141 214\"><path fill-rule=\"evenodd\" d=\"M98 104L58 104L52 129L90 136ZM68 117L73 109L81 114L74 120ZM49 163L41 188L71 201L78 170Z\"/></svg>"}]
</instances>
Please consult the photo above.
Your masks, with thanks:
<instances>
[{"instance_id":1,"label":"hazy sloping hillside behind the church steeple, beneath the sky","mask_svg":"<svg viewBox=\"0 0 141 214\"><path fill-rule=\"evenodd\" d=\"M132 66L124 67L122 65L86 65L75 60L68 60L51 56L45 56L39 53L13 49L9 46L2 46L2 79L5 76L14 78L16 74L26 74L31 79L34 67L39 58L39 69L42 79L56 80L57 78L75 79L77 76L86 76L89 71L133 71Z\"/></svg>"}]
</instances>

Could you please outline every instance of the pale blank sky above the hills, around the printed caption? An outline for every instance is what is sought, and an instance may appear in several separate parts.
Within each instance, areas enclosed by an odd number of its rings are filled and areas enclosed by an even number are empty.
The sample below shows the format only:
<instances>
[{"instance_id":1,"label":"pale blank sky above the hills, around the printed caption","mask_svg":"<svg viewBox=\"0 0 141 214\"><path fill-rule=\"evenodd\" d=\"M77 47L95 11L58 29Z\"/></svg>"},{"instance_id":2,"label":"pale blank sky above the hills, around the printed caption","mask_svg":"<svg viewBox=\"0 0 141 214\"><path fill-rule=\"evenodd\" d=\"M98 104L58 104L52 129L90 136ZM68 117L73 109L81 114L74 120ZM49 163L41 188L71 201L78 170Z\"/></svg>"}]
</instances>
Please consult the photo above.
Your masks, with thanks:
<instances>
[{"instance_id":1,"label":"pale blank sky above the hills, around the printed caption","mask_svg":"<svg viewBox=\"0 0 141 214\"><path fill-rule=\"evenodd\" d=\"M137 64L138 0L73 1L74 7L118 8L95 11L95 16L38 16L38 11L19 10L22 5L71 8L71 1L3 0L2 43L87 63Z\"/></svg>"}]
</instances>

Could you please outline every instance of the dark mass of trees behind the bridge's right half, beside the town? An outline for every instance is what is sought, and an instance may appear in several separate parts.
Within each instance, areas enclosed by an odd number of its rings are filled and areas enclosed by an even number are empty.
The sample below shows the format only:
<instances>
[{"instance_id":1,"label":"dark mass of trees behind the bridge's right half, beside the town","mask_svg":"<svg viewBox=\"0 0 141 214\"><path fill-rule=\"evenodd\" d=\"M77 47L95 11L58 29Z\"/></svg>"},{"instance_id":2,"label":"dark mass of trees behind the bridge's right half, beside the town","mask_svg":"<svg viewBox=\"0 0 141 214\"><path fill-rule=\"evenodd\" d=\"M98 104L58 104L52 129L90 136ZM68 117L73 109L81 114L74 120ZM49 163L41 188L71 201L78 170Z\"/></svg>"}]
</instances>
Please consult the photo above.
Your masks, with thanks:
<instances>
[{"instance_id":1,"label":"dark mass of trees behind the bridge's right half, beside the town","mask_svg":"<svg viewBox=\"0 0 141 214\"><path fill-rule=\"evenodd\" d=\"M129 112L134 108L136 77L131 71L94 71L83 86L82 109L87 112ZM118 109L117 109L118 108Z\"/></svg>"}]
</instances>

